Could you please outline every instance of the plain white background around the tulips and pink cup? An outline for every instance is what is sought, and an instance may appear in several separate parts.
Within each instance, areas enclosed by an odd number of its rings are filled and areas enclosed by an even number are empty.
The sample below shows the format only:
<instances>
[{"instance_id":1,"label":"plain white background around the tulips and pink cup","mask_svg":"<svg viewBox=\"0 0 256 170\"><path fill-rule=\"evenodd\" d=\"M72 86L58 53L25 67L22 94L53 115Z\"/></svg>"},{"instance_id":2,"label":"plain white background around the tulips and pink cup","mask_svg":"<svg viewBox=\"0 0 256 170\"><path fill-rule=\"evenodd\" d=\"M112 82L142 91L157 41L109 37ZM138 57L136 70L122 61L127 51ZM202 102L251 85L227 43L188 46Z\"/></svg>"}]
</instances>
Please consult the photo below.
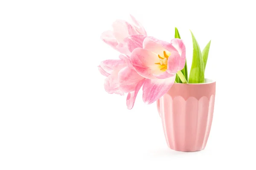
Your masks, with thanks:
<instances>
[{"instance_id":1,"label":"plain white background around the tulips and pink cup","mask_svg":"<svg viewBox=\"0 0 256 170\"><path fill-rule=\"evenodd\" d=\"M0 1L0 170L255 169L255 6L252 0ZM206 77L215 79L205 150L170 150L156 104L141 91L108 94L97 65L118 52L100 40L133 14L148 35L174 28L192 62L212 40Z\"/></svg>"}]
</instances>

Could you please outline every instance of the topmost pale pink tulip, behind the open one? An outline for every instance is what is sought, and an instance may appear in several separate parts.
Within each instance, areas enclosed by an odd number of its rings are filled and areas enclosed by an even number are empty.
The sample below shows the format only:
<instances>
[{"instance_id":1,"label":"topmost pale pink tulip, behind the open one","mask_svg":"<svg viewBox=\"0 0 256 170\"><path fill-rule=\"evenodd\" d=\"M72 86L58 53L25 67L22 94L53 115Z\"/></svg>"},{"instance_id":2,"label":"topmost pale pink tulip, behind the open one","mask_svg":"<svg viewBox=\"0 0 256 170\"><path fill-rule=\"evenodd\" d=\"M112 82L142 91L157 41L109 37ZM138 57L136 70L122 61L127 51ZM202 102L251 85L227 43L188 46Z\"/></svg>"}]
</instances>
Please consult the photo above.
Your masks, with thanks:
<instances>
[{"instance_id":1,"label":"topmost pale pink tulip, behind the open one","mask_svg":"<svg viewBox=\"0 0 256 170\"><path fill-rule=\"evenodd\" d=\"M101 35L101 39L105 43L128 56L131 55L131 51L128 50L127 42L124 41L125 38L137 34L147 35L144 27L132 15L131 19L133 24L125 20L116 20L112 25L113 31L105 31Z\"/></svg>"}]
</instances>

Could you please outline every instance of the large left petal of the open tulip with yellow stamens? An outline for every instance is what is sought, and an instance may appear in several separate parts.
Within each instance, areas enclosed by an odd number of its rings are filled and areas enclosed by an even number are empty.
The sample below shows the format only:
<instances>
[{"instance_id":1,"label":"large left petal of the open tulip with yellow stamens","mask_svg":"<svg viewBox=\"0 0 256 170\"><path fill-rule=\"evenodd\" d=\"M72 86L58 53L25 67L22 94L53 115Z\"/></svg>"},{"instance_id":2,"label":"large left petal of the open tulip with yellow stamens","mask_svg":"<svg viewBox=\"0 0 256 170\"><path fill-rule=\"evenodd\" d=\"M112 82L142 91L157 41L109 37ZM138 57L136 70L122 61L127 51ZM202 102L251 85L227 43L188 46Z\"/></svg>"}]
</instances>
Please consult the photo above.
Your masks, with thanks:
<instances>
[{"instance_id":1,"label":"large left petal of the open tulip with yellow stamens","mask_svg":"<svg viewBox=\"0 0 256 170\"><path fill-rule=\"evenodd\" d=\"M159 58L157 54L151 51L142 48L136 48L131 53L131 63L134 69L138 74L145 78L155 79L153 74L162 73L162 71L160 71L160 65L155 64L158 62Z\"/></svg>"}]
</instances>

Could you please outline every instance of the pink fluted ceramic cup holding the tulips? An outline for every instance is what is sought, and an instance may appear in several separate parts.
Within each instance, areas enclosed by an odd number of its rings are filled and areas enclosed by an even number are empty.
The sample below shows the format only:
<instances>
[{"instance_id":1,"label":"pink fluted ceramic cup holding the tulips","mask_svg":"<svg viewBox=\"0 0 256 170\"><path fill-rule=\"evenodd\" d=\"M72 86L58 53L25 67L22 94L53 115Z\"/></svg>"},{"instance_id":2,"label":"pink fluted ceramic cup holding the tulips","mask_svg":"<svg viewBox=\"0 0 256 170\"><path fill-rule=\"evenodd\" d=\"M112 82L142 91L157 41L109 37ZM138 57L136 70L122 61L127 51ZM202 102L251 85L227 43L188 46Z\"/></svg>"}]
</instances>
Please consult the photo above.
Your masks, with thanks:
<instances>
[{"instance_id":1,"label":"pink fluted ceramic cup holding the tulips","mask_svg":"<svg viewBox=\"0 0 256 170\"><path fill-rule=\"evenodd\" d=\"M203 150L212 125L215 82L175 83L157 101L169 148L183 152Z\"/></svg>"}]
</instances>

